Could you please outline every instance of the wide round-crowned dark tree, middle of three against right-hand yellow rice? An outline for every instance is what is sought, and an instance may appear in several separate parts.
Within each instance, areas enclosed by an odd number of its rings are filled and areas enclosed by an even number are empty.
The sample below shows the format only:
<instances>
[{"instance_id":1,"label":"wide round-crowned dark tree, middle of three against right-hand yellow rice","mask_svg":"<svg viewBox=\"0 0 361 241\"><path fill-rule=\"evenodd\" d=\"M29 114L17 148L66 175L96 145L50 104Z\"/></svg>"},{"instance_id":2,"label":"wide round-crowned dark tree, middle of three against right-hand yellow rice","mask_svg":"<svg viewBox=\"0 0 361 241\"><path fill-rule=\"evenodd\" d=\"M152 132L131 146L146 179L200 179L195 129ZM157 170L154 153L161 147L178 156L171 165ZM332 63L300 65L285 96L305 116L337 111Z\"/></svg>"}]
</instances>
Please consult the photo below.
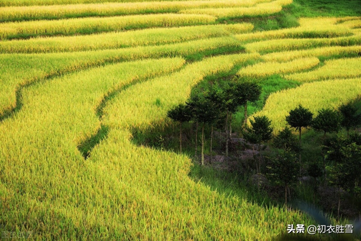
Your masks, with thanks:
<instances>
[{"instance_id":1,"label":"wide round-crowned dark tree, middle of three against right-hand yellow rice","mask_svg":"<svg viewBox=\"0 0 361 241\"><path fill-rule=\"evenodd\" d=\"M335 110L322 108L318 115L312 120L312 128L317 131L323 131L323 139L326 139L326 133L339 131L341 127L342 116Z\"/></svg>"}]
</instances>

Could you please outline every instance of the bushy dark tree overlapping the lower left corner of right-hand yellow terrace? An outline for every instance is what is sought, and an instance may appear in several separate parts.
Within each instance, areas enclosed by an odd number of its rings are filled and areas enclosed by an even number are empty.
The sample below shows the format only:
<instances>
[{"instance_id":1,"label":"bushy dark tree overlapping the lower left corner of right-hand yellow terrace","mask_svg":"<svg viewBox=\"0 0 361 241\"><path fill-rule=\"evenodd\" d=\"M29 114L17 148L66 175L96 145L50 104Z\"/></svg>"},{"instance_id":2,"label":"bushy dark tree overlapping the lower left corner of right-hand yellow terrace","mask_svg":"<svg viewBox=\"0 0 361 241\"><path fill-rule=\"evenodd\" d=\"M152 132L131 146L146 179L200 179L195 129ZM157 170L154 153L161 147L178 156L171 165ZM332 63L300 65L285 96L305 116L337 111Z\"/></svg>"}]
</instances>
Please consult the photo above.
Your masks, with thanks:
<instances>
[{"instance_id":1,"label":"bushy dark tree overlapping the lower left corner of right-hand yellow terrace","mask_svg":"<svg viewBox=\"0 0 361 241\"><path fill-rule=\"evenodd\" d=\"M272 138L273 128L271 127L270 119L268 119L268 117L266 117L265 115L258 117L256 116L255 120L250 120L250 122L251 127L245 127L245 130L243 131L243 136L244 139L246 139L249 143L253 145L253 156L255 156L254 145L260 145L261 142L269 141ZM259 149L260 148L258 146L258 150ZM261 173L261 161L260 159L258 161L259 166L257 167L256 163L256 168L257 172Z\"/></svg>"}]
</instances>

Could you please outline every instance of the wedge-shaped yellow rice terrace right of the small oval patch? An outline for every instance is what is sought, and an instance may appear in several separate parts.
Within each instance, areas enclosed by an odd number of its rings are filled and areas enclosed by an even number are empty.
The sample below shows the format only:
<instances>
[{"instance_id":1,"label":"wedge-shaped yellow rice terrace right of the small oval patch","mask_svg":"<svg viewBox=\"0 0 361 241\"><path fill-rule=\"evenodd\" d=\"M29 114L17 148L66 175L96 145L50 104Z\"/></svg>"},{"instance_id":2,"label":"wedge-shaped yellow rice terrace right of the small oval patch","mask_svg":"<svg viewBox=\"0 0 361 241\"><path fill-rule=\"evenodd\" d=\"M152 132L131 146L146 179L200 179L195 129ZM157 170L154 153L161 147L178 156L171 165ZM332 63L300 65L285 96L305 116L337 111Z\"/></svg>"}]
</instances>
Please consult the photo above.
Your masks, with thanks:
<instances>
[{"instance_id":1,"label":"wedge-shaped yellow rice terrace right of the small oval patch","mask_svg":"<svg viewBox=\"0 0 361 241\"><path fill-rule=\"evenodd\" d=\"M284 75L286 79L299 82L356 77L361 77L361 58L326 60L325 65L318 69L304 73Z\"/></svg>"}]
</instances>

